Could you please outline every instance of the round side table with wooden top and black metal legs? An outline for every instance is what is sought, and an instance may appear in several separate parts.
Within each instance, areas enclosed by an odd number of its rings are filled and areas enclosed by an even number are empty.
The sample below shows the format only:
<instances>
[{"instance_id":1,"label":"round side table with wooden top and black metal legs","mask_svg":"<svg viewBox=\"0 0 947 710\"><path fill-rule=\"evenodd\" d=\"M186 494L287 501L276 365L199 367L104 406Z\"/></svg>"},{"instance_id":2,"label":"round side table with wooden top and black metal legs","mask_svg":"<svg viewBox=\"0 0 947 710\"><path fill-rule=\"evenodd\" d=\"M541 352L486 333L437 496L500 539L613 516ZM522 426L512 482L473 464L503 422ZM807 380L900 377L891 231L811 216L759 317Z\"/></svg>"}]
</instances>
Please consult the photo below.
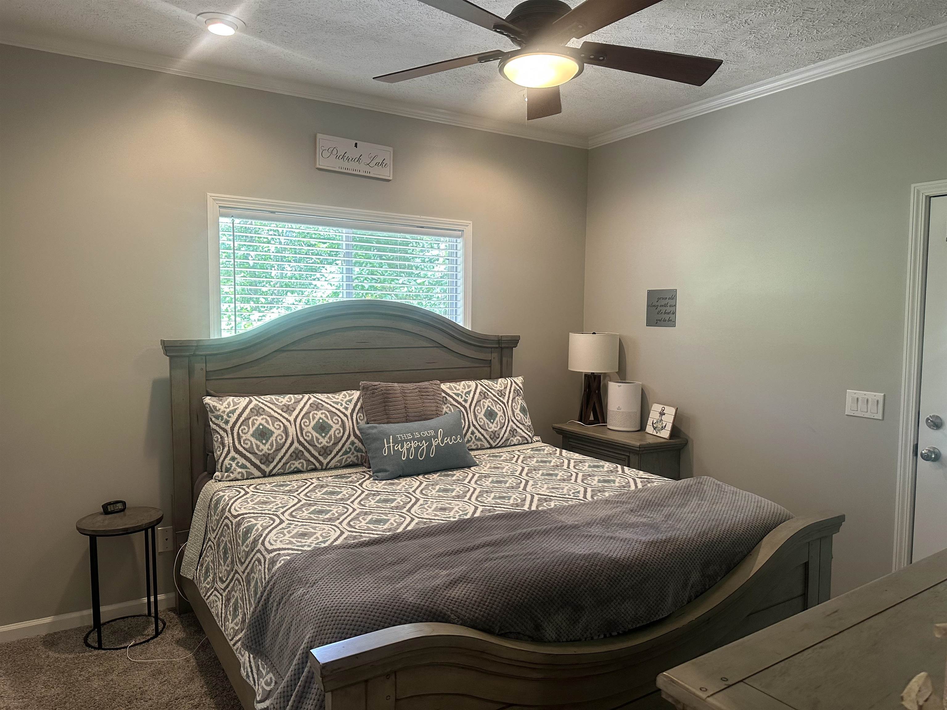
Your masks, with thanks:
<instances>
[{"instance_id":1,"label":"round side table with wooden top and black metal legs","mask_svg":"<svg viewBox=\"0 0 947 710\"><path fill-rule=\"evenodd\" d=\"M104 515L93 513L82 518L76 529L89 538L89 568L92 577L92 629L85 634L85 645L98 650L121 650L126 646L103 647L102 627L120 619L136 616L154 617L154 633L144 641L136 641L132 646L147 644L165 630L165 620L158 616L158 566L157 537L155 527L164 519L165 514L156 507L130 507L120 513ZM98 603L98 538L114 538L118 535L145 533L145 596L148 598L148 613L133 613L119 616L102 623L101 609ZM153 612L153 613L152 613ZM96 644L89 642L89 636L95 632Z\"/></svg>"}]
</instances>

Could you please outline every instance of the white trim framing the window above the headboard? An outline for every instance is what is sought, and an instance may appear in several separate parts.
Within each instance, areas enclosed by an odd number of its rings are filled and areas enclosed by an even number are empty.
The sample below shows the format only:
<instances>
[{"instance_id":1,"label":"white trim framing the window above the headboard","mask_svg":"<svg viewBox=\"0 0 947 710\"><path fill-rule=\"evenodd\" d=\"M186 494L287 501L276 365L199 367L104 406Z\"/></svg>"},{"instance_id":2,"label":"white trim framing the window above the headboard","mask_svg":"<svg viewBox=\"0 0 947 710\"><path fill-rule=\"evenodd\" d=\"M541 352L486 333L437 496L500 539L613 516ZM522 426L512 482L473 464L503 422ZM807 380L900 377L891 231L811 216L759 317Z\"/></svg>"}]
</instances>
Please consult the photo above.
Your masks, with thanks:
<instances>
[{"instance_id":1,"label":"white trim framing the window above the headboard","mask_svg":"<svg viewBox=\"0 0 947 710\"><path fill-rule=\"evenodd\" d=\"M400 215L394 212L377 212L371 209L331 207L326 204L290 203L282 200L261 200L236 195L207 193L207 269L210 289L210 337L221 337L221 242L220 220L222 209L246 209L261 212L289 213L310 217L329 217L336 220L367 222L389 222L402 226L417 226L427 229L450 229L463 235L464 263L464 328L473 323L473 279L474 222L446 220L439 217Z\"/></svg>"}]
</instances>

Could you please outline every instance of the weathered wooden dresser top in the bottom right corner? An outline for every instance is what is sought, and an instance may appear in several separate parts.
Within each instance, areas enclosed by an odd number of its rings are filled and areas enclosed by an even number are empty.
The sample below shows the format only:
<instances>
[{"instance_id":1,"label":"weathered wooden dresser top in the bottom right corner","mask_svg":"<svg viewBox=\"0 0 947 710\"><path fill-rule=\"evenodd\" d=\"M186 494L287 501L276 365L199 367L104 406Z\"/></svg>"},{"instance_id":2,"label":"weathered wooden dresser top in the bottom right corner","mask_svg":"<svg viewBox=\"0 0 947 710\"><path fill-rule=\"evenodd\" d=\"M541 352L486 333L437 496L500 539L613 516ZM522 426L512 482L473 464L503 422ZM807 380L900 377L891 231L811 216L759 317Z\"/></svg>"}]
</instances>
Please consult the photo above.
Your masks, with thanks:
<instances>
[{"instance_id":1,"label":"weathered wooden dresser top in the bottom right corner","mask_svg":"<svg viewBox=\"0 0 947 710\"><path fill-rule=\"evenodd\" d=\"M657 686L687 710L895 710L921 671L942 697L939 623L947 550L671 668Z\"/></svg>"}]
</instances>

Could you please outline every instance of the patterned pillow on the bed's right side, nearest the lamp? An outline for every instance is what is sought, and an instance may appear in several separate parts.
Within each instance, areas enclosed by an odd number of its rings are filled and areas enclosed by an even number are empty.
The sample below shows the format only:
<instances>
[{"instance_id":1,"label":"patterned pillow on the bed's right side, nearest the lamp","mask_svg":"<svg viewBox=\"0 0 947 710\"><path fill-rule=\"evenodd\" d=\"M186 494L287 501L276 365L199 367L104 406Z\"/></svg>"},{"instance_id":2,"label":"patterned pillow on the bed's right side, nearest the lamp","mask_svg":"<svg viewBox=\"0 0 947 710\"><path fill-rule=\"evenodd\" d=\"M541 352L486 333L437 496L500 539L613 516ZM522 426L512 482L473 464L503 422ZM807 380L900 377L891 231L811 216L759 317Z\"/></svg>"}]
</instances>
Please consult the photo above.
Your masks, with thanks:
<instances>
[{"instance_id":1,"label":"patterned pillow on the bed's right side, nearest the lamp","mask_svg":"<svg viewBox=\"0 0 947 710\"><path fill-rule=\"evenodd\" d=\"M495 449L534 440L523 378L442 382L444 414L460 410L467 448Z\"/></svg>"}]
</instances>

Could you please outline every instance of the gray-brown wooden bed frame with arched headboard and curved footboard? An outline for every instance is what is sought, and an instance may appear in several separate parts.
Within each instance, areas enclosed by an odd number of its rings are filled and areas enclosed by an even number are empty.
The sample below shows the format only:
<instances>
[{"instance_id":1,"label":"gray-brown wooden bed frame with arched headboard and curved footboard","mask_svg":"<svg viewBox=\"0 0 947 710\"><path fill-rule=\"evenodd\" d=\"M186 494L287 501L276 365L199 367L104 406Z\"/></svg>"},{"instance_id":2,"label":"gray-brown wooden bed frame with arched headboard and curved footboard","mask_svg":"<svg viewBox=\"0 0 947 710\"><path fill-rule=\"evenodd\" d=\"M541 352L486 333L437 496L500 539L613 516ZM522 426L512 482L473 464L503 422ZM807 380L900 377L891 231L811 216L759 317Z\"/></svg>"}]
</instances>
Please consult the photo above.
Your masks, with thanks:
<instances>
[{"instance_id":1,"label":"gray-brown wooden bed frame with arched headboard and curved footboard","mask_svg":"<svg viewBox=\"0 0 947 710\"><path fill-rule=\"evenodd\" d=\"M170 358L175 544L188 540L193 490L205 470L215 394L357 389L363 380L423 382L512 375L517 335L483 335L431 311L353 300L295 311L230 338L164 340ZM328 710L668 708L655 677L826 601L832 535L844 516L779 525L704 595L665 619L597 641L512 641L451 624L407 624L313 648ZM177 575L177 570L175 570ZM194 583L179 577L242 705L254 691Z\"/></svg>"}]
</instances>

